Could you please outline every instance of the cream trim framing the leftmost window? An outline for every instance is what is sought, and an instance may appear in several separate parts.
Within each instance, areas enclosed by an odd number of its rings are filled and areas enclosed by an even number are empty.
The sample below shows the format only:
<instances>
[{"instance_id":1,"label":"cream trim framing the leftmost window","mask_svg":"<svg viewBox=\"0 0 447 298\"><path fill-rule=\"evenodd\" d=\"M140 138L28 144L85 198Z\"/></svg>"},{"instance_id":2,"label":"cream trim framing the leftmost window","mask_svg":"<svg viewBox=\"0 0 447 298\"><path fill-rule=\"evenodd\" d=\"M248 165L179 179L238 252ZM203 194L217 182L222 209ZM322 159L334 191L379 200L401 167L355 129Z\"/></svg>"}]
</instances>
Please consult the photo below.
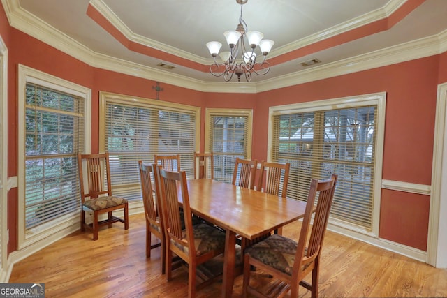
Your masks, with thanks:
<instances>
[{"instance_id":1,"label":"cream trim framing the leftmost window","mask_svg":"<svg viewBox=\"0 0 447 298\"><path fill-rule=\"evenodd\" d=\"M66 92L76 96L85 98L85 148L90 150L91 147L91 89L80 86L73 82L68 82L59 77L54 77L39 70L29 68L22 64L18 66L18 154L17 154L17 193L18 193L18 251L27 248L29 255L34 251L51 244L53 241L74 232L80 228L80 214L78 211L72 214L66 214L54 221L45 223L35 228L25 231L24 220L24 191L25 191L25 85L27 82L39 84L41 86L51 88L54 90Z\"/></svg>"}]
</instances>

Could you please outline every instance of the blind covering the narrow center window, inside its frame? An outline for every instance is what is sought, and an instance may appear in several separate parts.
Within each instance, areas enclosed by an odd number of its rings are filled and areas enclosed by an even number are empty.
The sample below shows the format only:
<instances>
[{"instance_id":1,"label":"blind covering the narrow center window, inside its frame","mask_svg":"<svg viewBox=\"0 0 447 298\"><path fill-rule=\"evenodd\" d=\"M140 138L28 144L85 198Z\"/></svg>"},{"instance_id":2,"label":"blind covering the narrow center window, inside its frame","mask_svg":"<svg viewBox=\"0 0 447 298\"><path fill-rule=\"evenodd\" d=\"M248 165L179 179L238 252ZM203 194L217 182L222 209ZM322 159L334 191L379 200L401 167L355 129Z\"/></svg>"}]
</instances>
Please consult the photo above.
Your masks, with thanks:
<instances>
[{"instance_id":1,"label":"blind covering the narrow center window, inside its frame","mask_svg":"<svg viewBox=\"0 0 447 298\"><path fill-rule=\"evenodd\" d=\"M209 121L214 179L231 183L236 158L247 158L249 116L211 115Z\"/></svg>"}]
</instances>

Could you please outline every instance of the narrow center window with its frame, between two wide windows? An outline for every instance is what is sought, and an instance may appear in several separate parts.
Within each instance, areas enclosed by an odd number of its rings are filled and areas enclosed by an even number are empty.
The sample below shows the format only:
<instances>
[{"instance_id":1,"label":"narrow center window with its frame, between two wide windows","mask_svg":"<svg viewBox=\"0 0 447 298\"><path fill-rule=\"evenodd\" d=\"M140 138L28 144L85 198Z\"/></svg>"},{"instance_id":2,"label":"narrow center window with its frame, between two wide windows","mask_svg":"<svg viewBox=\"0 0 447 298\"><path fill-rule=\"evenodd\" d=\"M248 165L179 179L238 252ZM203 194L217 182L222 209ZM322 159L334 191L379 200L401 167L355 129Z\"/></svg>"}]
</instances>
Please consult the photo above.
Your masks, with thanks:
<instances>
[{"instance_id":1,"label":"narrow center window with its frame, between two wide windows","mask_svg":"<svg viewBox=\"0 0 447 298\"><path fill-rule=\"evenodd\" d=\"M251 158L252 110L207 109L205 151L214 154L214 179L231 183L236 158Z\"/></svg>"}]
</instances>

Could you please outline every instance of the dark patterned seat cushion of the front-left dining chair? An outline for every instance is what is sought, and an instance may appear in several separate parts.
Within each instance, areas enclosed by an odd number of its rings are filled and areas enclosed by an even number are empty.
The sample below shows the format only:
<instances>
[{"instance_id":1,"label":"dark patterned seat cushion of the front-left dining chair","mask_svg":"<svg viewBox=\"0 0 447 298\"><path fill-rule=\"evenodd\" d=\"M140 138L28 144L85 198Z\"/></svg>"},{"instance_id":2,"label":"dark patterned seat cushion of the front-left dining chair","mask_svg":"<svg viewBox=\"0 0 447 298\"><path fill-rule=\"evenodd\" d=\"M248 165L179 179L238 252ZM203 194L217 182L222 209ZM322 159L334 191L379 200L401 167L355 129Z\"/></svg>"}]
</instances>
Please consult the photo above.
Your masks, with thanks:
<instances>
[{"instance_id":1,"label":"dark patterned seat cushion of the front-left dining chair","mask_svg":"<svg viewBox=\"0 0 447 298\"><path fill-rule=\"evenodd\" d=\"M225 233L217 230L217 228L205 223L199 223L198 225L193 226L193 233L197 256L203 255L209 251L223 250L225 247ZM186 239L186 230L183 231L183 237ZM173 240L171 240L171 244L182 249L185 253L189 253L186 246L177 244L177 242Z\"/></svg>"}]
</instances>

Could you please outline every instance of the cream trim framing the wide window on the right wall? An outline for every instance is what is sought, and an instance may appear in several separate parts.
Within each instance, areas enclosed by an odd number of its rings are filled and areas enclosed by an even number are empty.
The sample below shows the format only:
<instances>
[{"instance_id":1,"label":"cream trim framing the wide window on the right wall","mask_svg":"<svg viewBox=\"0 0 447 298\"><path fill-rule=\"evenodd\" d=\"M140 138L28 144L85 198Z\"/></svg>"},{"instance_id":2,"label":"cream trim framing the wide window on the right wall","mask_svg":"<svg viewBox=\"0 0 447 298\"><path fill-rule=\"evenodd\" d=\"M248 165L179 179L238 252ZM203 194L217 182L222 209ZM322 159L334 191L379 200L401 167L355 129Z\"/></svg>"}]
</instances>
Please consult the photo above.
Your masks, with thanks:
<instances>
[{"instance_id":1,"label":"cream trim framing the wide window on the right wall","mask_svg":"<svg viewBox=\"0 0 447 298\"><path fill-rule=\"evenodd\" d=\"M380 220L380 201L381 201L381 181L382 181L382 164L383 164L383 138L385 132L385 108L386 108L386 92L376 94L365 94L359 96L349 96L343 98L333 98L327 100L318 100L305 103L293 103L290 105L279 105L270 107L268 120L268 161L272 161L272 144L273 144L273 115L274 114L290 114L293 112L314 112L319 110L346 109L349 107L360 107L365 105L377 105L377 128L376 128L376 148L375 148L375 165L374 165L374 198L372 211L372 230L368 231L355 225L349 225L335 218L330 218L330 225L342 229L344 233L350 234L350 231L365 234L369 237L379 236L379 220Z\"/></svg>"}]
</instances>

